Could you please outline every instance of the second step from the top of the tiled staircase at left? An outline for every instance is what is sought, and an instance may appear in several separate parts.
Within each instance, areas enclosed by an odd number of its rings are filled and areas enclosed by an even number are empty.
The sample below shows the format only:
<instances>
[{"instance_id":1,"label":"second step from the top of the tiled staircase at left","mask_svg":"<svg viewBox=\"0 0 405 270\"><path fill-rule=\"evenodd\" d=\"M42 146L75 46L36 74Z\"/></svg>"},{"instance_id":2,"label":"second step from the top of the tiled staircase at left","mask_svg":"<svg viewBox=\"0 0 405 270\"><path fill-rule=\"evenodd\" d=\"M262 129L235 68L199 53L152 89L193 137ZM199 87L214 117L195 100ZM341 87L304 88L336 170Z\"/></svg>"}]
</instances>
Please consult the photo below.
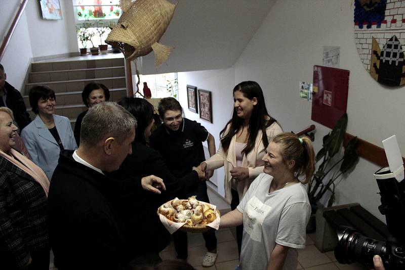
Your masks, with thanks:
<instances>
[{"instance_id":1,"label":"second step from the top of the tiled staircase at left","mask_svg":"<svg viewBox=\"0 0 405 270\"><path fill-rule=\"evenodd\" d=\"M125 67L102 67L30 72L29 83L125 76Z\"/></svg>"}]
</instances>

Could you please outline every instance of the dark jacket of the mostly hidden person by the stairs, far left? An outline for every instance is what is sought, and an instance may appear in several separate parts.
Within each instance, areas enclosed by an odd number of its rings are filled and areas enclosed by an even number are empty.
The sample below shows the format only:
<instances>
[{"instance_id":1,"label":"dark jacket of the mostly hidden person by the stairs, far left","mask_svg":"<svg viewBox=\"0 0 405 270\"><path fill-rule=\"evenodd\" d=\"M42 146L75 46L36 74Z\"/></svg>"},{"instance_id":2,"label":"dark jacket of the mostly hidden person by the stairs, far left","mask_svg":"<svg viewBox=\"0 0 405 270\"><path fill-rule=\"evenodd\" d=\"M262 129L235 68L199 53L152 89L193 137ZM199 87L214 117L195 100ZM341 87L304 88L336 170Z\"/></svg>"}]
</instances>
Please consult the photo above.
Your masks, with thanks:
<instances>
[{"instance_id":1,"label":"dark jacket of the mostly hidden person by the stairs, far left","mask_svg":"<svg viewBox=\"0 0 405 270\"><path fill-rule=\"evenodd\" d=\"M7 107L13 111L14 119L16 120L21 132L21 130L31 122L27 108L25 108L24 99L22 98L21 93L7 81L4 84L4 88L6 88L7 91Z\"/></svg>"}]
</instances>

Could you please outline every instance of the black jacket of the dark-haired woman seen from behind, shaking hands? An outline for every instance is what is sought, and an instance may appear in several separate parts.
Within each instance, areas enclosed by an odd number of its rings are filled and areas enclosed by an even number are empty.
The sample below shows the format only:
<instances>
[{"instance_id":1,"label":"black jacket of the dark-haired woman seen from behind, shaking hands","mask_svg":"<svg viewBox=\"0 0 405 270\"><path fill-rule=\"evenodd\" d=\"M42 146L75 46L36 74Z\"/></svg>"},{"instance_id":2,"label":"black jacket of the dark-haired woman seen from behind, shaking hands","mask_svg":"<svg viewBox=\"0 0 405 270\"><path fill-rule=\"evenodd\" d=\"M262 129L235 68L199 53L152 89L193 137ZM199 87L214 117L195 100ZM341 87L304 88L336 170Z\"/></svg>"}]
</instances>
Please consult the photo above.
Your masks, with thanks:
<instances>
[{"instance_id":1,"label":"black jacket of the dark-haired woman seen from behind, shaking hands","mask_svg":"<svg viewBox=\"0 0 405 270\"><path fill-rule=\"evenodd\" d=\"M183 178L176 178L159 152L139 142L132 143L132 155L129 155L111 176L116 179L125 179L133 175L145 177L151 174L163 179L166 191L162 191L160 195L142 191L136 197L124 197L121 208L127 213L126 222L131 228L136 229L132 232L143 232L132 235L132 242L135 245L139 242L144 243L141 249L137 250L138 253L159 252L167 246L170 235L157 216L157 208L173 196L184 199L184 196L196 190L200 183L195 171L190 171ZM140 220L147 220L147 222L140 222Z\"/></svg>"}]
</instances>

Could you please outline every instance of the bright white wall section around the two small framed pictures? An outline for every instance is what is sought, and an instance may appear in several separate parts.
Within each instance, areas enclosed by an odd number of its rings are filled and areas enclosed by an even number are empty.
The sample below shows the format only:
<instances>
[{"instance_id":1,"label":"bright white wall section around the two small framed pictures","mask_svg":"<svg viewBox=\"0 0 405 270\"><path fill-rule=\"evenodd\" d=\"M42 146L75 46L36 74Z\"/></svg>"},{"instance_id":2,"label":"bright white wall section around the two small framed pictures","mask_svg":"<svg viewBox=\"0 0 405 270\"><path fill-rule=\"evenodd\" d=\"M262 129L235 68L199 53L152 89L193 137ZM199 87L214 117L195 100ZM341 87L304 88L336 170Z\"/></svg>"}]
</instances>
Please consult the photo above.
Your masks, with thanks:
<instances>
[{"instance_id":1,"label":"bright white wall section around the two small framed pictures","mask_svg":"<svg viewBox=\"0 0 405 270\"><path fill-rule=\"evenodd\" d=\"M218 69L210 71L193 71L178 73L179 79L179 102L183 107L185 117L195 120L203 125L213 134L215 145L219 147L219 132L224 128L226 122L232 116L233 96L232 89L234 84L233 68ZM187 84L197 86L198 89L211 91L213 105L213 122L200 119L199 114L188 110L187 106ZM206 144L206 143L205 143ZM207 144L206 144L207 146ZM224 192L224 170L223 168L215 170L211 179L218 186L218 192L225 196Z\"/></svg>"}]
</instances>

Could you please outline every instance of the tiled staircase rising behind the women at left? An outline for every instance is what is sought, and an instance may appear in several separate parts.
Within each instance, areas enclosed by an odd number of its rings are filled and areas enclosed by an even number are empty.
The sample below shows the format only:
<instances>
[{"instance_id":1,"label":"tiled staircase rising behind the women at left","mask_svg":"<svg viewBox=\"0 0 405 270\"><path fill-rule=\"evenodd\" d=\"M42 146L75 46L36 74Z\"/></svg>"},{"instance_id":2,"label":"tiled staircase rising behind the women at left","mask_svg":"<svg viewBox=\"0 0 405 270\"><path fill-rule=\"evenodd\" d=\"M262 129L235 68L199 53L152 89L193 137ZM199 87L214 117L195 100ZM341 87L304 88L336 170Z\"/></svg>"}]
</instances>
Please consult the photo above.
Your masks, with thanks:
<instances>
[{"instance_id":1,"label":"tiled staircase rising behind the women at left","mask_svg":"<svg viewBox=\"0 0 405 270\"><path fill-rule=\"evenodd\" d=\"M55 114L68 117L73 129L77 115L87 110L82 101L82 91L89 82L96 81L107 86L110 101L127 96L124 58L81 58L32 63L28 83L22 93L31 119L36 115L31 111L28 93L32 86L38 84L45 84L55 91Z\"/></svg>"}]
</instances>

